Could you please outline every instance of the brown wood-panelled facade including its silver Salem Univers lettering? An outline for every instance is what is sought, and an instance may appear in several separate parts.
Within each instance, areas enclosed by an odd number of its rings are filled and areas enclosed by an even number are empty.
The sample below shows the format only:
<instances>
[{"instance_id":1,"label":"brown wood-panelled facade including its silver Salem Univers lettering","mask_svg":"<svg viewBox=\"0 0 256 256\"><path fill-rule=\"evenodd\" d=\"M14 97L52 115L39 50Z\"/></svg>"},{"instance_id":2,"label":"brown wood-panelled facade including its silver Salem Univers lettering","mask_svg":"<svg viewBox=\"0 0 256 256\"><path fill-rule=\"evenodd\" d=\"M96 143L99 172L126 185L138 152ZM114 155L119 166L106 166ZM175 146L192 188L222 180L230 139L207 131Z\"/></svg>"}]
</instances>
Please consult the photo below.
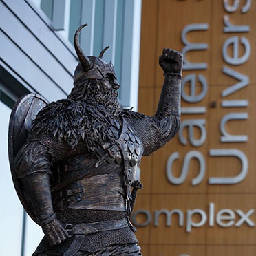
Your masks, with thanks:
<instances>
[{"instance_id":1,"label":"brown wood-panelled facade including its silver Salem Univers lettering","mask_svg":"<svg viewBox=\"0 0 256 256\"><path fill-rule=\"evenodd\" d=\"M184 54L182 125L142 159L143 255L256 255L255 1L142 1L139 110L153 114L162 48Z\"/></svg>"}]
</instances>

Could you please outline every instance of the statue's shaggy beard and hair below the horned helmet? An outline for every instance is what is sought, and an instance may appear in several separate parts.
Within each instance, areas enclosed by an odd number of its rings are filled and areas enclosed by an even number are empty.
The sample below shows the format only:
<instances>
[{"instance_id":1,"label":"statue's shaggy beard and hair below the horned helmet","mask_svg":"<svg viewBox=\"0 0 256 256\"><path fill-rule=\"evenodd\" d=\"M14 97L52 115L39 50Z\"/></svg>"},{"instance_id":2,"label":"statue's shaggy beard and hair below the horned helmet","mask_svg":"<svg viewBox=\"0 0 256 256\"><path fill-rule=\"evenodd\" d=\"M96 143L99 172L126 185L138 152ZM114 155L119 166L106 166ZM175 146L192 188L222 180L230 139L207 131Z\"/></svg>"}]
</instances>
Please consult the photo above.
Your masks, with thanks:
<instances>
[{"instance_id":1,"label":"statue's shaggy beard and hair below the horned helmet","mask_svg":"<svg viewBox=\"0 0 256 256\"><path fill-rule=\"evenodd\" d=\"M118 116L121 112L121 105L118 100L116 89L106 89L102 81L88 80L79 83L72 89L67 98L74 100L94 100L104 105L111 111L111 115Z\"/></svg>"}]
</instances>

